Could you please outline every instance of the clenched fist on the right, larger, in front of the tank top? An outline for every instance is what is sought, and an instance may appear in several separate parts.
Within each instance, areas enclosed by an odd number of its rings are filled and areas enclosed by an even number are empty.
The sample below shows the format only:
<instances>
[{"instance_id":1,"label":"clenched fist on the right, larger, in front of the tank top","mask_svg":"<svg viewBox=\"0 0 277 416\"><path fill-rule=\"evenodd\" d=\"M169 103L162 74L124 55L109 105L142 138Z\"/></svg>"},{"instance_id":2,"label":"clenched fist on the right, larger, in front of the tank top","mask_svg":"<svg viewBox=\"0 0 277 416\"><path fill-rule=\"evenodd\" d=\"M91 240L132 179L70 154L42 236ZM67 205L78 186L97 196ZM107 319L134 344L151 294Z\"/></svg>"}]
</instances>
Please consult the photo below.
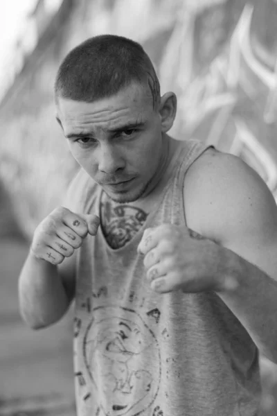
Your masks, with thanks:
<instances>
[{"instance_id":1,"label":"clenched fist on the right, larger, in front of the tank top","mask_svg":"<svg viewBox=\"0 0 277 416\"><path fill-rule=\"evenodd\" d=\"M233 289L226 276L224 251L215 242L187 227L163 224L145 229L138 252L144 255L146 278L159 293Z\"/></svg>"}]
</instances>

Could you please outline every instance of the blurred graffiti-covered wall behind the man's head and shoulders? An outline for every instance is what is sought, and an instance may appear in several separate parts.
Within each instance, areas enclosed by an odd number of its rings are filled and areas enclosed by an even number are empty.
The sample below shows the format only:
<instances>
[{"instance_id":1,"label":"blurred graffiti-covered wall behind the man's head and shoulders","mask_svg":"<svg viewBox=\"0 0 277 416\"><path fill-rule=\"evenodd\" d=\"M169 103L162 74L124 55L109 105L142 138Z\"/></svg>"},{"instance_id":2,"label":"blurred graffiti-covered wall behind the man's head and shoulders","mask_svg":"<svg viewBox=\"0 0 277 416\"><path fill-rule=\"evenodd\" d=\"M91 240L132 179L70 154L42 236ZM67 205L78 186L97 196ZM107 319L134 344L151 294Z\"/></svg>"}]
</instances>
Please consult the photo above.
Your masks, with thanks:
<instances>
[{"instance_id":1,"label":"blurred graffiti-covered wall behind the man's head and shoulders","mask_svg":"<svg viewBox=\"0 0 277 416\"><path fill-rule=\"evenodd\" d=\"M173 137L238 155L277 199L277 0L71 3L0 107L0 175L27 234L61 202L78 168L55 125L55 72L70 49L100 33L143 44L161 92L177 94Z\"/></svg>"}]
</instances>

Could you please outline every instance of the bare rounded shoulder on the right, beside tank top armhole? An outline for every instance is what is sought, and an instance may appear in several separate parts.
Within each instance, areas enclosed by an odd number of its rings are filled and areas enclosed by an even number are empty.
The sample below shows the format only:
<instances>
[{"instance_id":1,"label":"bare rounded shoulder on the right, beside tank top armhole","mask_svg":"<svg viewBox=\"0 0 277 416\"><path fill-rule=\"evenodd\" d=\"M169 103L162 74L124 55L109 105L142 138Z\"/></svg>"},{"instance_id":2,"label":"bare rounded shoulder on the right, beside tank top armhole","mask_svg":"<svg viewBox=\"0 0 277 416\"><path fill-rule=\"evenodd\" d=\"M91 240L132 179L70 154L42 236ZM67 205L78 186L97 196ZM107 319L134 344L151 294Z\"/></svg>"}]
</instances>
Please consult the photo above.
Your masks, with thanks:
<instances>
[{"instance_id":1,"label":"bare rounded shoulder on the right, beside tank top armhole","mask_svg":"<svg viewBox=\"0 0 277 416\"><path fill-rule=\"evenodd\" d=\"M242 159L208 149L190 166L184 183L188 227L201 234L246 221L247 212L274 199L262 178ZM244 218L245 217L245 218ZM208 236L208 235L206 235Z\"/></svg>"}]
</instances>

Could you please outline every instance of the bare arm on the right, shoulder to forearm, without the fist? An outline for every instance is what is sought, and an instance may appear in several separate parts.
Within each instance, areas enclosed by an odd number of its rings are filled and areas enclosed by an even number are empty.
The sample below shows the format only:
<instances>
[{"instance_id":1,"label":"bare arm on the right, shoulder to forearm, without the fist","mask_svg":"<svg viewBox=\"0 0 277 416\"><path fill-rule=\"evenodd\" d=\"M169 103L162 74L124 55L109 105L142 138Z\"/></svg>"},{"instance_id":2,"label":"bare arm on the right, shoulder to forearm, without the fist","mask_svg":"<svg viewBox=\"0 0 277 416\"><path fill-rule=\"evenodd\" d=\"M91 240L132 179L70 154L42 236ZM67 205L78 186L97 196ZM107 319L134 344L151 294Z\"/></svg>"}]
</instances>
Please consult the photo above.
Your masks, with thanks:
<instances>
[{"instance_id":1,"label":"bare arm on the right, shoulder to forearm, without the fist","mask_svg":"<svg viewBox=\"0 0 277 416\"><path fill-rule=\"evenodd\" d=\"M217 294L277 362L277 208L269 189L240 159L215 153L188 171L184 197L193 201L188 226L219 245L217 277L233 279Z\"/></svg>"}]
</instances>

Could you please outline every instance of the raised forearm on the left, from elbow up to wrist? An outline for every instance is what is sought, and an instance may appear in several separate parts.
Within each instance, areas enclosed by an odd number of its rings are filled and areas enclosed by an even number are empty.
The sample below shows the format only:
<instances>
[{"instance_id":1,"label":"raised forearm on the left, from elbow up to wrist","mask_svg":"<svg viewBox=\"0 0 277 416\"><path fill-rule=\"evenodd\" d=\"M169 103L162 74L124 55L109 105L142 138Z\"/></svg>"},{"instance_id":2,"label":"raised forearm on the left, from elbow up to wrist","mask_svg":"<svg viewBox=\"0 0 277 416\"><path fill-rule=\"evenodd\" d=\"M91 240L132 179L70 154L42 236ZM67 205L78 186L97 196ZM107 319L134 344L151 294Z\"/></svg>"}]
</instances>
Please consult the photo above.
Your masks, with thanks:
<instances>
[{"instance_id":1,"label":"raised forearm on the left, from elbow up to wrist","mask_svg":"<svg viewBox=\"0 0 277 416\"><path fill-rule=\"evenodd\" d=\"M69 307L57 266L29 254L19 276L21 316L33 329L57 322Z\"/></svg>"}]
</instances>

